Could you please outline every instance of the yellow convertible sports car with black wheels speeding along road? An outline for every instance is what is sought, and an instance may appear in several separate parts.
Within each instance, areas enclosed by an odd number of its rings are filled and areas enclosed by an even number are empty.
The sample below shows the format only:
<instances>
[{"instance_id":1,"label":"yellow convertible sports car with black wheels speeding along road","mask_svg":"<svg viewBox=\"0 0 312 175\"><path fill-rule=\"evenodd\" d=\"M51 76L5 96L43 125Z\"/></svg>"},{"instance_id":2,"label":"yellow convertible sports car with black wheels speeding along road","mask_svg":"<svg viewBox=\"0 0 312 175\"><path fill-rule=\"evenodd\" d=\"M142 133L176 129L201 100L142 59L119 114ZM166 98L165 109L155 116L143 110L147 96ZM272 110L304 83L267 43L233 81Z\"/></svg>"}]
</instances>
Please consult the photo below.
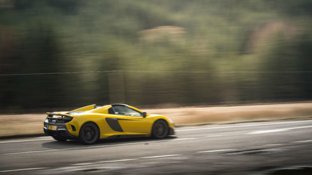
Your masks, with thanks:
<instances>
[{"instance_id":1,"label":"yellow convertible sports car with black wheels speeding along road","mask_svg":"<svg viewBox=\"0 0 312 175\"><path fill-rule=\"evenodd\" d=\"M76 139L92 144L104 138L152 136L162 139L175 134L171 119L124 104L88 105L69 112L46 114L44 133L59 141Z\"/></svg>"}]
</instances>

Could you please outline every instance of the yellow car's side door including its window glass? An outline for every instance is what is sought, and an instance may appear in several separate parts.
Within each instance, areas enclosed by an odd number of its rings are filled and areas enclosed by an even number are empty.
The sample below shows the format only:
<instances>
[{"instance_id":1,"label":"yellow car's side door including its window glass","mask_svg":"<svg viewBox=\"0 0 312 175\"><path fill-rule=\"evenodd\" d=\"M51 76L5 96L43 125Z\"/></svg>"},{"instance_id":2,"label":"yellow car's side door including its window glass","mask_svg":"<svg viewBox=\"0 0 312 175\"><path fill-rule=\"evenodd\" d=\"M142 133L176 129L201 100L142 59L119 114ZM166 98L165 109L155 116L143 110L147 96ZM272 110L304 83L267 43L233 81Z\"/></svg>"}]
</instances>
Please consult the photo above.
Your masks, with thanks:
<instances>
[{"instance_id":1,"label":"yellow car's side door including its window glass","mask_svg":"<svg viewBox=\"0 0 312 175\"><path fill-rule=\"evenodd\" d=\"M113 110L118 123L126 134L137 135L150 133L151 123L139 111L127 106L114 106Z\"/></svg>"}]
</instances>

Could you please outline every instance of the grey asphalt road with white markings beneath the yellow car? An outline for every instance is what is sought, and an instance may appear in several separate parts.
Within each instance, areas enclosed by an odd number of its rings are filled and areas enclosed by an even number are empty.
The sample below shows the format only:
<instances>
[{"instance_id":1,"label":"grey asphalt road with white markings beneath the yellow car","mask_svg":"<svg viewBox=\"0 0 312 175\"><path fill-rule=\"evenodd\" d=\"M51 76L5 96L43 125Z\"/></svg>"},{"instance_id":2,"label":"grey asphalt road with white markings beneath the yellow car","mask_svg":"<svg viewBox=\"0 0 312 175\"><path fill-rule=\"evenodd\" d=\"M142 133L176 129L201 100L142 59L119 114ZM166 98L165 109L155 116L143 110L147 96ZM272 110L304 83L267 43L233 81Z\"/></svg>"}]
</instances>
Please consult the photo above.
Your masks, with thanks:
<instances>
[{"instance_id":1,"label":"grey asphalt road with white markings beneath the yellow car","mask_svg":"<svg viewBox=\"0 0 312 175\"><path fill-rule=\"evenodd\" d=\"M312 174L312 120L203 125L176 132L163 140L100 140L88 146L51 137L0 140L0 174Z\"/></svg>"}]
</instances>

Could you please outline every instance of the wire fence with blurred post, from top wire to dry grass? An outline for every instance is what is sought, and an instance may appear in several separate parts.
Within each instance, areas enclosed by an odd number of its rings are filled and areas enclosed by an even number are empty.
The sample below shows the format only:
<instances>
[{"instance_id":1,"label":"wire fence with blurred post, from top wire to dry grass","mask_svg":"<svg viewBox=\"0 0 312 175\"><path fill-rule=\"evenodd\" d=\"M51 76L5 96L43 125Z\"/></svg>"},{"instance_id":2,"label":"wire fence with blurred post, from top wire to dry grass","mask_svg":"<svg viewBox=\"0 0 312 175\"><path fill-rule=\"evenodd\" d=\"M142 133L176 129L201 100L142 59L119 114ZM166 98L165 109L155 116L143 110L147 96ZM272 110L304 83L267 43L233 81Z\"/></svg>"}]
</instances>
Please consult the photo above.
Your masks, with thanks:
<instances>
[{"instance_id":1,"label":"wire fence with blurred post, from top wire to dry grass","mask_svg":"<svg viewBox=\"0 0 312 175\"><path fill-rule=\"evenodd\" d=\"M112 103L154 108L309 101L311 73L103 70L1 74L0 113Z\"/></svg>"}]
</instances>

